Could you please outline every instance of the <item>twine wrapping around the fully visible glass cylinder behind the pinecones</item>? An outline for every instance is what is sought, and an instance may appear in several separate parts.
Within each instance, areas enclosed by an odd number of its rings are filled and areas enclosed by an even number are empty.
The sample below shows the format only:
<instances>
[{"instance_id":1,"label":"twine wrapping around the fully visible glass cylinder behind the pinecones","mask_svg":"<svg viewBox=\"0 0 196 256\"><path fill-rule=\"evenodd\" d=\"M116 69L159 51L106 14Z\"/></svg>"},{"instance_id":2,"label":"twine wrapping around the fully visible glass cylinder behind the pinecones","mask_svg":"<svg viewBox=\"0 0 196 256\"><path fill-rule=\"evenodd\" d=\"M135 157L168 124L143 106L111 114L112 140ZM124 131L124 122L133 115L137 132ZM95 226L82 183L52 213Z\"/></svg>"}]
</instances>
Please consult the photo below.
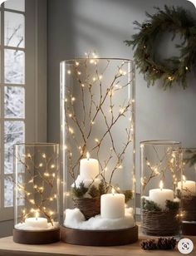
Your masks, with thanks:
<instances>
[{"instance_id":1,"label":"twine wrapping around the fully visible glass cylinder behind the pinecones","mask_svg":"<svg viewBox=\"0 0 196 256\"><path fill-rule=\"evenodd\" d=\"M153 236L173 236L179 234L178 210L142 211L142 232Z\"/></svg>"}]
</instances>

